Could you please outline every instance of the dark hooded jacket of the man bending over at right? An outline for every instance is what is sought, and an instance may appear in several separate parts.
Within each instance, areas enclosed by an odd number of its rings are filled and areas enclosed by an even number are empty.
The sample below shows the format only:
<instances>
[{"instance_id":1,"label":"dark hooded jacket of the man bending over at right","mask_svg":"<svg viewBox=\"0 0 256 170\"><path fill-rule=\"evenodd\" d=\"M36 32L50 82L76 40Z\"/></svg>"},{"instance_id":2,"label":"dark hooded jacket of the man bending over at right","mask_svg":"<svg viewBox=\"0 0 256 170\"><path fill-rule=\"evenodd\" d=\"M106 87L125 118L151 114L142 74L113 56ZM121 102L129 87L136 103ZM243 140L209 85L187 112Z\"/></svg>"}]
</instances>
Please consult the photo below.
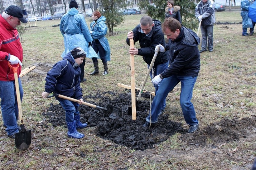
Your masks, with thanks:
<instances>
[{"instance_id":1,"label":"dark hooded jacket of the man bending over at right","mask_svg":"<svg viewBox=\"0 0 256 170\"><path fill-rule=\"evenodd\" d=\"M182 26L178 37L174 41L169 39L169 44L164 46L169 50L170 66L162 72L163 78L172 75L197 76L200 70L199 43L196 33Z\"/></svg>"}]
</instances>

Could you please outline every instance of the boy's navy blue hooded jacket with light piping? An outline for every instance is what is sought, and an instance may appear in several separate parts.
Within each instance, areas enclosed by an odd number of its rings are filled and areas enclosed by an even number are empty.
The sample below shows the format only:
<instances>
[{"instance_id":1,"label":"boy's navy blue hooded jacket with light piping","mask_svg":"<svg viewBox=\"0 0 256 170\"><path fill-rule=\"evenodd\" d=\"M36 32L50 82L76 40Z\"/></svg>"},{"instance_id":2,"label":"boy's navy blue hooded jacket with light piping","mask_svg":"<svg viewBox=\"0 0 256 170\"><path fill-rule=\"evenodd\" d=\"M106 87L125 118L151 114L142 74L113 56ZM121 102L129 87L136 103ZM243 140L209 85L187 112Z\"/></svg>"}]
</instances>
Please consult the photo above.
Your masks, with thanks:
<instances>
[{"instance_id":1,"label":"boy's navy blue hooded jacket with light piping","mask_svg":"<svg viewBox=\"0 0 256 170\"><path fill-rule=\"evenodd\" d=\"M47 73L45 78L45 92L58 93L74 99L82 99L82 88L80 87L81 69L70 52L63 60L54 64L52 70ZM56 97L57 100L64 100Z\"/></svg>"}]
</instances>

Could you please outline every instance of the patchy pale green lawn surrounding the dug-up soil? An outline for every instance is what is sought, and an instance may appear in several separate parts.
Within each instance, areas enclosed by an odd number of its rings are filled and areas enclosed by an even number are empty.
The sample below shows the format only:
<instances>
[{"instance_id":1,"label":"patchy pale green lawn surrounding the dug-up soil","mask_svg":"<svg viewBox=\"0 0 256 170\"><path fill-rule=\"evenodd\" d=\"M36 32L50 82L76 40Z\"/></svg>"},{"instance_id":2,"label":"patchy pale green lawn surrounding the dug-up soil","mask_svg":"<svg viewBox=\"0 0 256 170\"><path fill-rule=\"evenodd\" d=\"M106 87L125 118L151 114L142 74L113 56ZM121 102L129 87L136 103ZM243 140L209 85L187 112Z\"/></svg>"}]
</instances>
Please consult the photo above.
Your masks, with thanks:
<instances>
[{"instance_id":1,"label":"patchy pale green lawn surrounding the dug-up soil","mask_svg":"<svg viewBox=\"0 0 256 170\"><path fill-rule=\"evenodd\" d=\"M125 16L125 22L114 28L115 35L107 35L111 48L107 76L101 75L101 62L98 76L87 75L93 70L93 64L91 59L86 59L87 82L81 84L84 96L98 90L122 92L124 89L118 87L117 83L130 85L130 55L125 39L128 31L139 24L142 16ZM90 19L86 18L88 26ZM217 22L239 23L241 20L239 10L228 11L227 8L224 12L216 12ZM31 23L35 26L35 22ZM206 148L193 148L183 143L182 137L189 137L186 134L175 134L154 149L135 151L97 137L95 127L81 129L85 137L80 140L67 138L64 127L51 127L51 123L46 122L41 113L47 110L51 102L58 104L58 101L54 98L42 99L41 94L44 91L47 71L61 60L60 54L64 50L63 37L59 26L56 26L59 23L60 20L50 20L38 21L36 27L25 25L27 31L21 35L24 50L23 69L33 65L36 65L36 69L21 78L24 89L22 110L26 127L32 129L33 139L30 148L20 152L15 149L14 141L6 137L4 128L1 127L1 155L6 156L1 158L0 169L232 169L233 165L243 169L247 165L247 159L236 164L230 163L233 158L226 156L228 149L238 147L240 141L222 146L225 151L217 155L222 160L214 162L213 157L207 159L212 155L212 148L205 151ZM201 70L192 98L200 129L226 116L230 119L241 119L256 113L256 36L242 37L241 34L241 24L214 25L214 51L201 54ZM139 47L138 42L135 47ZM146 72L147 64L141 56L135 56L136 87L141 87ZM150 81L146 83L145 89L154 91ZM169 114L170 120L181 122L182 126L187 128L179 96L180 85L177 85L173 92L168 94L165 114ZM223 107L218 107L220 103L223 103ZM41 122L49 128L41 127ZM2 124L2 119L0 123ZM253 136L252 141L255 141ZM212 145L209 137L208 145ZM255 156L252 149L255 145L255 142L245 141L240 145L238 152L249 150L248 152ZM66 148L69 148L69 151ZM81 152L84 152L85 157L81 156ZM202 159L198 159L199 156L203 156Z\"/></svg>"}]
</instances>

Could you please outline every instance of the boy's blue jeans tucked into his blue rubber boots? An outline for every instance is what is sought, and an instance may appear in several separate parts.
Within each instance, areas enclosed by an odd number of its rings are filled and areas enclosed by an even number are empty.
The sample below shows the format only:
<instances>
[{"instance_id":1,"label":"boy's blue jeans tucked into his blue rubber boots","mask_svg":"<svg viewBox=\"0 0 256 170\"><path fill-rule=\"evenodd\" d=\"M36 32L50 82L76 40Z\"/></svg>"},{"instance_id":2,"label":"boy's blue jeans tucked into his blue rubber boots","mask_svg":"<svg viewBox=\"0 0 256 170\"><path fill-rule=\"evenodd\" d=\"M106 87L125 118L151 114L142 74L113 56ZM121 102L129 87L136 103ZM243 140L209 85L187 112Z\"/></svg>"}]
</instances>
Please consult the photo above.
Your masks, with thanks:
<instances>
[{"instance_id":1,"label":"boy's blue jeans tucked into his blue rubber boots","mask_svg":"<svg viewBox=\"0 0 256 170\"><path fill-rule=\"evenodd\" d=\"M74 115L79 115L79 103L70 100L59 100L60 105L66 111L66 122L74 122Z\"/></svg>"}]
</instances>

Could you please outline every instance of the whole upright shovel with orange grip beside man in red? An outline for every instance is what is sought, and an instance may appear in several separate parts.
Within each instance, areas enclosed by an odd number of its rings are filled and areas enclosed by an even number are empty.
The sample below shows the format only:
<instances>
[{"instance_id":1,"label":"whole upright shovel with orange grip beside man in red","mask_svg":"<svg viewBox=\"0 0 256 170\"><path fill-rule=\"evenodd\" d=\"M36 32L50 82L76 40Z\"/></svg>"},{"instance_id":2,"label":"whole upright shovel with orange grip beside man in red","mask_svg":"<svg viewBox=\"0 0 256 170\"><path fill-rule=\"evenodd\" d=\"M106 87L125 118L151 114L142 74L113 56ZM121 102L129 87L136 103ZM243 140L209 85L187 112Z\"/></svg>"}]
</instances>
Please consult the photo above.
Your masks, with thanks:
<instances>
[{"instance_id":1,"label":"whole upright shovel with orange grip beside man in red","mask_svg":"<svg viewBox=\"0 0 256 170\"><path fill-rule=\"evenodd\" d=\"M17 149L25 151L28 149L29 145L31 144L31 130L25 129L25 125L24 125L23 117L22 117L23 115L22 115L22 110L21 110L20 88L19 88L19 81L18 81L18 68L20 67L20 64L18 64L17 67L12 67L10 62L8 62L8 65L13 70L13 73L14 73L16 98L17 98L17 102L18 102L20 128L21 128L20 132L15 133L15 146Z\"/></svg>"}]
</instances>

